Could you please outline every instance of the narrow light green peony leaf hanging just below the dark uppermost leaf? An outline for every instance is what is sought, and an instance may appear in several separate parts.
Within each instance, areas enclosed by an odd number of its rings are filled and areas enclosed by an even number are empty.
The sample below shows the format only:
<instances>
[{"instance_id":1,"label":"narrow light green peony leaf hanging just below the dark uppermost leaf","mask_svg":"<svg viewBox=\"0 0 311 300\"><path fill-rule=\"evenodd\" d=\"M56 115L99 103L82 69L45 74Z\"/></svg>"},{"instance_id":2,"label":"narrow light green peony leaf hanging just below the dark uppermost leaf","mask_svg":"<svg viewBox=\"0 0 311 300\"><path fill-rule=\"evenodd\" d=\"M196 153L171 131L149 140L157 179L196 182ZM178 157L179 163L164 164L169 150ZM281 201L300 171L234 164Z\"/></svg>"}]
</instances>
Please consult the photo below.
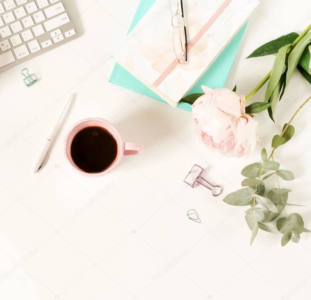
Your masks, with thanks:
<instances>
[{"instance_id":1,"label":"narrow light green peony leaf hanging just below the dark uppermost leaf","mask_svg":"<svg viewBox=\"0 0 311 300\"><path fill-rule=\"evenodd\" d=\"M266 90L264 102L268 102L268 100L271 98L273 91L276 90L276 87L277 87L278 83L280 82L281 76L283 75L283 73L286 70L285 60L286 60L287 50L290 46L291 46L291 44L281 47L277 53L276 59L274 61L274 64L273 64L273 67L271 70L271 75L269 78L268 87ZM283 85L283 82L282 82L282 85ZM279 90L280 90L279 91L279 95L280 95L281 89L279 88ZM279 101L279 99L277 99L277 102L278 101Z\"/></svg>"}]
</instances>

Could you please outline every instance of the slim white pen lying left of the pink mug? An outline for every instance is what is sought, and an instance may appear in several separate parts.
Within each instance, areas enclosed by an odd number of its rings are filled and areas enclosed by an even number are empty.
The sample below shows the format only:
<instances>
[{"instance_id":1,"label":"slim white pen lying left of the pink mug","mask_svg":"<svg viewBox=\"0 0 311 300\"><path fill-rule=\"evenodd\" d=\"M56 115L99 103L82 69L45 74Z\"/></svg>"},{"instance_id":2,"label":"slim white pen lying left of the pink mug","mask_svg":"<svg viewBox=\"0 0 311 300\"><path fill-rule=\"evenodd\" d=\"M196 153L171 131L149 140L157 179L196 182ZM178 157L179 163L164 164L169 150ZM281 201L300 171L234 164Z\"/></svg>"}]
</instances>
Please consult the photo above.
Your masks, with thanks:
<instances>
[{"instance_id":1,"label":"slim white pen lying left of the pink mug","mask_svg":"<svg viewBox=\"0 0 311 300\"><path fill-rule=\"evenodd\" d=\"M48 160L49 152L50 152L50 149L52 148L53 140L58 132L59 127L62 125L64 121L65 114L72 101L72 95L73 94L70 95L69 100L66 106L64 107L63 112L61 116L59 117L58 122L56 123L51 135L46 139L44 143L44 147L42 148L43 150L41 151L40 156L36 162L35 168L33 170L34 174L37 173L40 169L42 169Z\"/></svg>"}]
</instances>

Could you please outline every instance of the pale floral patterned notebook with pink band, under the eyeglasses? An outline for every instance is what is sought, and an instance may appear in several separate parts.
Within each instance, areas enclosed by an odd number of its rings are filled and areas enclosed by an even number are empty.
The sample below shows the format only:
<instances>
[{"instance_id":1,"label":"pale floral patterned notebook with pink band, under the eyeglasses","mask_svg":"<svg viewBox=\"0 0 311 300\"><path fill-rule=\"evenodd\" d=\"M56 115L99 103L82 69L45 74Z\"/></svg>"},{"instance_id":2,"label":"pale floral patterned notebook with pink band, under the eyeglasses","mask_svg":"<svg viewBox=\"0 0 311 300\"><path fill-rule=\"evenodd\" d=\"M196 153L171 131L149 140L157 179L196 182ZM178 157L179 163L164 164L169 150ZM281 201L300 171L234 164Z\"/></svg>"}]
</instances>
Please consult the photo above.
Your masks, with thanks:
<instances>
[{"instance_id":1,"label":"pale floral patterned notebook with pink band, under the eyeglasses","mask_svg":"<svg viewBox=\"0 0 311 300\"><path fill-rule=\"evenodd\" d=\"M174 3L158 0L133 28L114 59L175 107L243 27L259 1L247 3L244 0L183 2L188 42L197 41L188 53L188 64L172 68ZM200 32L202 36L198 38Z\"/></svg>"}]
</instances>

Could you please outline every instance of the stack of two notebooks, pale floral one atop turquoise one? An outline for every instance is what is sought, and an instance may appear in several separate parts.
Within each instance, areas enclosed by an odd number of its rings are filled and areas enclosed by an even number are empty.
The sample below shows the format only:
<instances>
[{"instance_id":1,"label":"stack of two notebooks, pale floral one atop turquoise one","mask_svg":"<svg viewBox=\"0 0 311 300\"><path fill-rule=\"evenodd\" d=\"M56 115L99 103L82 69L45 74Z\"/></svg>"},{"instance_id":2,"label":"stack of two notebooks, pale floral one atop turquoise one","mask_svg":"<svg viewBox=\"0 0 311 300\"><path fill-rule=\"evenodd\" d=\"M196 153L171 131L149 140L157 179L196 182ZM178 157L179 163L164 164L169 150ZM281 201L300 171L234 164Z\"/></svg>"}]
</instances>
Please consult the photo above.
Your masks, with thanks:
<instances>
[{"instance_id":1,"label":"stack of two notebooks, pale floral one atop turquoise one","mask_svg":"<svg viewBox=\"0 0 311 300\"><path fill-rule=\"evenodd\" d=\"M130 32L114 56L110 81L138 93L191 111L178 104L187 94L202 93L201 85L224 86L258 0L183 1L188 64L172 68L171 14L178 0L141 0Z\"/></svg>"}]
</instances>

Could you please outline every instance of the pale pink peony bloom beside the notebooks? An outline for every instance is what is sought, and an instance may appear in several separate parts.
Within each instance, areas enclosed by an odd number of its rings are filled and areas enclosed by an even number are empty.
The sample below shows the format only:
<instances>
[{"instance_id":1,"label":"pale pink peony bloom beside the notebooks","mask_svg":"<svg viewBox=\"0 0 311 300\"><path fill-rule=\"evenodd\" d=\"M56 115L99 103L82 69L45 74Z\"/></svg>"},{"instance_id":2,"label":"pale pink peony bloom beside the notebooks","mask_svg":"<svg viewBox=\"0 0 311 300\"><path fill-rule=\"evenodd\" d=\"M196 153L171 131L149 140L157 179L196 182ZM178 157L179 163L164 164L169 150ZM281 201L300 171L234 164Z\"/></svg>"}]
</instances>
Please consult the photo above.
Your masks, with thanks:
<instances>
[{"instance_id":1,"label":"pale pink peony bloom beside the notebooks","mask_svg":"<svg viewBox=\"0 0 311 300\"><path fill-rule=\"evenodd\" d=\"M227 156L248 155L255 148L257 121L245 113L245 97L227 88L202 86L205 95L192 105L200 140L211 150Z\"/></svg>"}]
</instances>

